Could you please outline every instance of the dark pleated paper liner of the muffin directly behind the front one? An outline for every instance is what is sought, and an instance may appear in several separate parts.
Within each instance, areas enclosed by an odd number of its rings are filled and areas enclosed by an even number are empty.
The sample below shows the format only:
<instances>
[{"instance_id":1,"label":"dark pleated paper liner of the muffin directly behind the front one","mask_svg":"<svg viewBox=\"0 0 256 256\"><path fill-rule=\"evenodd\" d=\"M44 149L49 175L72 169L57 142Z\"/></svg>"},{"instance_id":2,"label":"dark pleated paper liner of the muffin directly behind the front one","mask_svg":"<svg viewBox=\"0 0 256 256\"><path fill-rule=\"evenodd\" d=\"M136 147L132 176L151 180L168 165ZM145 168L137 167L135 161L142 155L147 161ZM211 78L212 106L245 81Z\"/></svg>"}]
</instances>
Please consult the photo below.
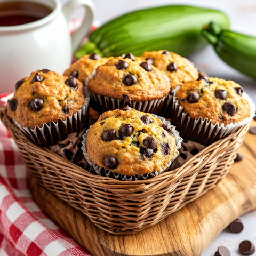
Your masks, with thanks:
<instances>
[{"instance_id":1,"label":"dark pleated paper liner of the muffin directly behind the front one","mask_svg":"<svg viewBox=\"0 0 256 256\"><path fill-rule=\"evenodd\" d=\"M86 79L85 87L88 88L89 80L97 74L97 70L95 69ZM169 77L166 76L167 82L170 83ZM89 90L89 89L88 89ZM170 94L166 94L164 97L156 100L150 101L134 101L129 99L116 99L112 97L107 97L103 95L99 95L97 93L89 90L91 96L91 107L97 111L99 114L102 114L106 111L123 108L125 106L130 106L138 111L151 113L159 115L166 107L167 104L170 104Z\"/></svg>"}]
</instances>

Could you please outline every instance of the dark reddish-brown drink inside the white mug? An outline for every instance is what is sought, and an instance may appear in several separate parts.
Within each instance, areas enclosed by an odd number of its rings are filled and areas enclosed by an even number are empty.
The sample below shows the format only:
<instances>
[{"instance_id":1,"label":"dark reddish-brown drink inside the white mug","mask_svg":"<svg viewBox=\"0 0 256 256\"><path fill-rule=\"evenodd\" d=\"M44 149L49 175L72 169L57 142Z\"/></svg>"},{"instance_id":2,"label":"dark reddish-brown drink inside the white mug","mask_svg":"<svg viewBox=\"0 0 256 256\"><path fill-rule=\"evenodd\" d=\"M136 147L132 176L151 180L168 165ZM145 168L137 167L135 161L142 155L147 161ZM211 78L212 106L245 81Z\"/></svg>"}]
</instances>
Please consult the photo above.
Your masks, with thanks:
<instances>
[{"instance_id":1,"label":"dark reddish-brown drink inside the white mug","mask_svg":"<svg viewBox=\"0 0 256 256\"><path fill-rule=\"evenodd\" d=\"M11 1L0 3L0 26L17 26L49 15L52 10L42 4L27 1Z\"/></svg>"}]
</instances>

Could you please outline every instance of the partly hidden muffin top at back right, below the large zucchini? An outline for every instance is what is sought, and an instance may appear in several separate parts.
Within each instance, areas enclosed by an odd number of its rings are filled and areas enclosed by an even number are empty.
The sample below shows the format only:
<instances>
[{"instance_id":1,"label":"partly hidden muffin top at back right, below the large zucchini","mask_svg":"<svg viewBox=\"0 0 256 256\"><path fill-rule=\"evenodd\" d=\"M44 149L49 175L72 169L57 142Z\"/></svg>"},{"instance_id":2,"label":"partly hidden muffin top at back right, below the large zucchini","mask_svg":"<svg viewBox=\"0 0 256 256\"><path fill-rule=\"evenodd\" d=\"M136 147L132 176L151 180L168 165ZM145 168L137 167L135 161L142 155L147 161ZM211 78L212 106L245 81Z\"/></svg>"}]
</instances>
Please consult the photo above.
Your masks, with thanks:
<instances>
[{"instance_id":1,"label":"partly hidden muffin top at back right, below the large zucchini","mask_svg":"<svg viewBox=\"0 0 256 256\"><path fill-rule=\"evenodd\" d=\"M144 52L140 58L162 70L170 78L172 89L198 78L194 63L176 53L166 50Z\"/></svg>"}]
</instances>

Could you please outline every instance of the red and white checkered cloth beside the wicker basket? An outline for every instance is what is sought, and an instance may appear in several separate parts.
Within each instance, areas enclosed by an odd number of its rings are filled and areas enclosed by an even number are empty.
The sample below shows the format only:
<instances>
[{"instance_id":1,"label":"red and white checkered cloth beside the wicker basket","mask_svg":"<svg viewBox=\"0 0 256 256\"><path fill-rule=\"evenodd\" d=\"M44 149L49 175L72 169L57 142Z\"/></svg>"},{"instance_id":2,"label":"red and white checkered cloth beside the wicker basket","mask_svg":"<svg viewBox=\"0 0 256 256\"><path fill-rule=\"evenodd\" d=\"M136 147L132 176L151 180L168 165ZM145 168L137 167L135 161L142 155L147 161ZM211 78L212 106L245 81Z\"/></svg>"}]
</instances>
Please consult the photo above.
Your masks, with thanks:
<instances>
[{"instance_id":1,"label":"red and white checkered cloth beside the wicker basket","mask_svg":"<svg viewBox=\"0 0 256 256\"><path fill-rule=\"evenodd\" d=\"M8 97L0 95L0 106ZM28 170L0 121L0 256L90 255L39 209L28 189Z\"/></svg>"}]
</instances>

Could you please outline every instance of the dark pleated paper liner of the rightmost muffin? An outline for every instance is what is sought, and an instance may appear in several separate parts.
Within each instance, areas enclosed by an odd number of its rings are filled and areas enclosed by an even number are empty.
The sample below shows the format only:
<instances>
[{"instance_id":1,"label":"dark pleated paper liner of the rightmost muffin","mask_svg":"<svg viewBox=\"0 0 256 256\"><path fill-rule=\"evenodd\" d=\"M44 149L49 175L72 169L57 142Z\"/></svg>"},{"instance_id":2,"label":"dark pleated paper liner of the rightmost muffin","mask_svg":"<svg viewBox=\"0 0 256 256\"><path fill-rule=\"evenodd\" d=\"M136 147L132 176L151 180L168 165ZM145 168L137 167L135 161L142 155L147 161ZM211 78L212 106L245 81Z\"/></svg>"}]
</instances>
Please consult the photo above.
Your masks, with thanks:
<instances>
[{"instance_id":1,"label":"dark pleated paper liner of the rightmost muffin","mask_svg":"<svg viewBox=\"0 0 256 256\"><path fill-rule=\"evenodd\" d=\"M219 123L213 125L212 121L208 118L203 119L202 117L199 117L197 120L192 119L178 102L176 92L179 90L179 88L180 86L174 90L171 121L176 126L176 129L180 131L183 139L192 140L205 146L209 146L213 142L234 133L239 129L239 127L250 123L255 116L255 105L253 100L247 93L244 92L243 97L249 102L251 113L250 117L245 118L243 121L227 125Z\"/></svg>"}]
</instances>

